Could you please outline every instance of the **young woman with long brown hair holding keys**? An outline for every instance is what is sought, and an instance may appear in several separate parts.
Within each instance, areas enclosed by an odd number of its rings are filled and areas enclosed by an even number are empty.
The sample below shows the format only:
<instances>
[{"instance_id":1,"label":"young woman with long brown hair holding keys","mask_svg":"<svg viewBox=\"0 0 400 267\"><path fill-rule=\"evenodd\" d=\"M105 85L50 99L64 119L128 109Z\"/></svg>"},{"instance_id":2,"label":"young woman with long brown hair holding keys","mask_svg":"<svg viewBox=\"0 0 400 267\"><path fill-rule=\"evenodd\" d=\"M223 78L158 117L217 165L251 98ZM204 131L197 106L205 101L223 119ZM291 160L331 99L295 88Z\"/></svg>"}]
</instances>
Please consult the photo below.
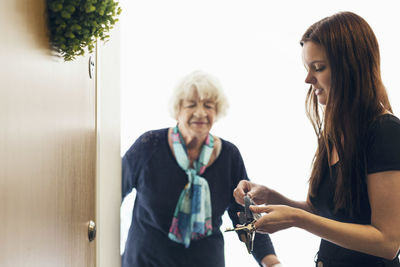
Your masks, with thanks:
<instances>
[{"instance_id":1,"label":"young woman with long brown hair holding keys","mask_svg":"<svg viewBox=\"0 0 400 267\"><path fill-rule=\"evenodd\" d=\"M351 12L324 18L301 42L310 84L307 115L318 138L306 201L241 181L255 227L299 227L321 237L317 266L400 266L400 120L380 75L376 37Z\"/></svg>"}]
</instances>

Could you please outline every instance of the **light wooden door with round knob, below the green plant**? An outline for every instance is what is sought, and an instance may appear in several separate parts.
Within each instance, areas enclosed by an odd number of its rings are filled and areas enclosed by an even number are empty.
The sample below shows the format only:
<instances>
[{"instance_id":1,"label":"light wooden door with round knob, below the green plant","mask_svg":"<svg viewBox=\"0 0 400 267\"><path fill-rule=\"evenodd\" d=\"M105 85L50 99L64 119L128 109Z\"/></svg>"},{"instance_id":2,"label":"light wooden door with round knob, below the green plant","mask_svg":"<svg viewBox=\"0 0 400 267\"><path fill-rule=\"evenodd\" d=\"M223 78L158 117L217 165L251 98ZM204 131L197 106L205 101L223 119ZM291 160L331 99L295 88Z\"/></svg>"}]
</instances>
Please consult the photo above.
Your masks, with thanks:
<instances>
[{"instance_id":1,"label":"light wooden door with round knob, below the green plant","mask_svg":"<svg viewBox=\"0 0 400 267\"><path fill-rule=\"evenodd\" d=\"M95 79L48 47L44 0L0 4L0 266L95 266Z\"/></svg>"}]
</instances>

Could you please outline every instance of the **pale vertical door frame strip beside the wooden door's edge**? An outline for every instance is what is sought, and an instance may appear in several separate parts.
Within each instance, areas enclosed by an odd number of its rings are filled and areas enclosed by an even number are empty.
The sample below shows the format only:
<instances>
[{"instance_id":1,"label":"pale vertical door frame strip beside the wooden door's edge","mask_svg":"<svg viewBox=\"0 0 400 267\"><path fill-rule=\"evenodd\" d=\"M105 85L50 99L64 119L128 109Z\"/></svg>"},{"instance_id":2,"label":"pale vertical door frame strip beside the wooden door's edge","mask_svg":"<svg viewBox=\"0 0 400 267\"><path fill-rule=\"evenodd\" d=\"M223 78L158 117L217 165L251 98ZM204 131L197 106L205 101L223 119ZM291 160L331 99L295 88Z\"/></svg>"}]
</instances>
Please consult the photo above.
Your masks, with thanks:
<instances>
[{"instance_id":1,"label":"pale vertical door frame strip beside the wooden door's edge","mask_svg":"<svg viewBox=\"0 0 400 267\"><path fill-rule=\"evenodd\" d=\"M121 266L120 29L96 47L96 267Z\"/></svg>"}]
</instances>

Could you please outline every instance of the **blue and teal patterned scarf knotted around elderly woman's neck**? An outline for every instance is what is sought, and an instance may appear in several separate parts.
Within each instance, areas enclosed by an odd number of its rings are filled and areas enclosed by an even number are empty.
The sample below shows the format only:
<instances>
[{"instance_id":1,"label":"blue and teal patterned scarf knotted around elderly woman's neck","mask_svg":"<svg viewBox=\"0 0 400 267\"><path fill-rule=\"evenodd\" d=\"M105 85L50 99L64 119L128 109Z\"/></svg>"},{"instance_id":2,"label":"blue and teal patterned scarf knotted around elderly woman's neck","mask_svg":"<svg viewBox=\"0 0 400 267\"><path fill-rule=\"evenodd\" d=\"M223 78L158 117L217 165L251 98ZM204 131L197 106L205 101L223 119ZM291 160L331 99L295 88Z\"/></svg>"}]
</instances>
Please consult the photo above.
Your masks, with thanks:
<instances>
[{"instance_id":1,"label":"blue and teal patterned scarf knotted around elderly woman's neck","mask_svg":"<svg viewBox=\"0 0 400 267\"><path fill-rule=\"evenodd\" d=\"M188 183L182 190L176 205L168 237L189 247L191 240L209 236L212 233L210 189L206 179L199 176L204 173L214 147L214 138L208 134L200 156L190 168L185 142L175 126L172 142L178 165L186 172Z\"/></svg>"}]
</instances>

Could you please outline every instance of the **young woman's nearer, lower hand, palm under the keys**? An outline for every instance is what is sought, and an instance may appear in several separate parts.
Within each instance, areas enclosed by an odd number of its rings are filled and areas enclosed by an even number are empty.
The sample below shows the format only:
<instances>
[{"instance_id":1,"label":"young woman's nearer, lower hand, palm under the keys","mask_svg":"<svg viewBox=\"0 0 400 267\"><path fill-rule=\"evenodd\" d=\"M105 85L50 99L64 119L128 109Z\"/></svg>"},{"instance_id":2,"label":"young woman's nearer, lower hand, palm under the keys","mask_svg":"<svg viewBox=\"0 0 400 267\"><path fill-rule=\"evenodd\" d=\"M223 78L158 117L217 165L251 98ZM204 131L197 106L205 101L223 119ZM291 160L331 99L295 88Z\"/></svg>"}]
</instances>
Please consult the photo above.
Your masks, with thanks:
<instances>
[{"instance_id":1,"label":"young woman's nearer, lower hand, palm under the keys","mask_svg":"<svg viewBox=\"0 0 400 267\"><path fill-rule=\"evenodd\" d=\"M299 218L300 209L285 205L250 206L251 211L266 213L258 219L254 226L260 233L275 233L295 226Z\"/></svg>"}]
</instances>

